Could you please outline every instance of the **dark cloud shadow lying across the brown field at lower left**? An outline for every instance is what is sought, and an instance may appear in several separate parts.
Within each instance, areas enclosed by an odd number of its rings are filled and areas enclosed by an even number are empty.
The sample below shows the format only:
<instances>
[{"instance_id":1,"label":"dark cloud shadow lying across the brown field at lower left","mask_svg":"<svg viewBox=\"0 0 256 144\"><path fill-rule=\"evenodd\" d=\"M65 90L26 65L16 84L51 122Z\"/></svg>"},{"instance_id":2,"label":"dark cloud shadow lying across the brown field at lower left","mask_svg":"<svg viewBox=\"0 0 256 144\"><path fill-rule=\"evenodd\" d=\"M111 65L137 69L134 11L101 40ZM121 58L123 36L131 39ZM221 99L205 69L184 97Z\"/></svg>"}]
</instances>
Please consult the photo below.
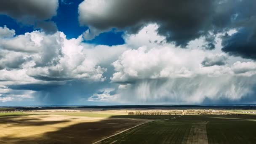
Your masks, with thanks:
<instances>
[{"instance_id":1,"label":"dark cloud shadow lying across the brown field at lower left","mask_svg":"<svg viewBox=\"0 0 256 144\"><path fill-rule=\"evenodd\" d=\"M5 119L6 120L6 119ZM30 119L24 120L10 120L10 123L15 124L26 122L26 126L29 125L44 125L45 127L51 126L51 124L62 123L63 121L50 121L50 122L29 122ZM36 120L33 118L33 120ZM73 125L68 125L64 128L59 128L57 131L46 132L41 135L33 135L29 137L17 137L13 135L0 137L1 144L91 144L95 141L103 139L123 131L127 128L131 128L142 120L125 120L125 119L112 119L106 118L99 121L86 121ZM22 128L22 127L21 127ZM24 130L24 133L26 131Z\"/></svg>"}]
</instances>

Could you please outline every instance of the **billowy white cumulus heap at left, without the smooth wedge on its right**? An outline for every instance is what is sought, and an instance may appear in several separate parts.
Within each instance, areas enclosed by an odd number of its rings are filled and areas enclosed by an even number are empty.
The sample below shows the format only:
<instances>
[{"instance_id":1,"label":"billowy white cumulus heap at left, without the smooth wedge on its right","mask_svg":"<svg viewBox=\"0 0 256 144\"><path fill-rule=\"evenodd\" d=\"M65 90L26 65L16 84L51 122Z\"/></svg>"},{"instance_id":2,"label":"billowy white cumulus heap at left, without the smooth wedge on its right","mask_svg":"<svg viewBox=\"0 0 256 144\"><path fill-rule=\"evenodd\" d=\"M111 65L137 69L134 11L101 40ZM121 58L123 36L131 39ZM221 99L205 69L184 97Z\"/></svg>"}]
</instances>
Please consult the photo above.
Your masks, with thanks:
<instances>
[{"instance_id":1,"label":"billowy white cumulus heap at left, without the smooth wedge on its right","mask_svg":"<svg viewBox=\"0 0 256 144\"><path fill-rule=\"evenodd\" d=\"M27 75L38 80L104 80L103 73L107 69L97 65L93 57L87 58L81 40L81 37L67 40L61 32L45 35L37 31L4 39L0 47L18 56L3 56L1 67L22 67ZM19 55L21 52L23 55Z\"/></svg>"}]
</instances>

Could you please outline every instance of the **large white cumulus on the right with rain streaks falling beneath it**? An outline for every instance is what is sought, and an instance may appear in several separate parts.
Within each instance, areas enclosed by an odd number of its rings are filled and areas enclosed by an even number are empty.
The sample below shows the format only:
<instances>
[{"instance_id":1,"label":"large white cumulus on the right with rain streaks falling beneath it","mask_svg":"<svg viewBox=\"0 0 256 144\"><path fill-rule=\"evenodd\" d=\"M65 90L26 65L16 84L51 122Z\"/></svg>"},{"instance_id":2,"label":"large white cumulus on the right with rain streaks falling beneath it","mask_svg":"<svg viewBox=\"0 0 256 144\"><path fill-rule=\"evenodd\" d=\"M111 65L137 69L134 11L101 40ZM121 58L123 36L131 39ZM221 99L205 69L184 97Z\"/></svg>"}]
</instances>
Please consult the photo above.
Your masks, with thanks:
<instances>
[{"instance_id":1,"label":"large white cumulus on the right with rain streaks falling beneath it","mask_svg":"<svg viewBox=\"0 0 256 144\"><path fill-rule=\"evenodd\" d=\"M151 32L154 31L151 29ZM136 42L139 35L131 36L134 37L134 44L139 45ZM133 40L130 37L126 39L131 40L128 45L132 45ZM254 61L235 61L234 57L222 53L220 48L204 51L193 43L188 45L188 49L176 48L168 43L144 44L138 49L124 51L112 63L116 72L111 80L119 84L116 101L200 104L207 99L239 101L255 93ZM204 43L200 47L202 45ZM235 63L229 64L229 59Z\"/></svg>"}]
</instances>

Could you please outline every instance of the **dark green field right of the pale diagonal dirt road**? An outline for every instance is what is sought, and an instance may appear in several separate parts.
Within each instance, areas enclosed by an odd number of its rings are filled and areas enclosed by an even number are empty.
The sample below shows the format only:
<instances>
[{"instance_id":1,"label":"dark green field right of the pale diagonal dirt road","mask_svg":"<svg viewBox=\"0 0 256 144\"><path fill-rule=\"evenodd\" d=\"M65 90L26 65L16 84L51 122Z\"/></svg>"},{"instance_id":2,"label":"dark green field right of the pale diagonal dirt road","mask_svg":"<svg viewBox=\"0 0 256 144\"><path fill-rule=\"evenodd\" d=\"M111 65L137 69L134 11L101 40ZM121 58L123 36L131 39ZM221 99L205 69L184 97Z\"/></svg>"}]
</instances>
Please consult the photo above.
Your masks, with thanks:
<instances>
[{"instance_id":1,"label":"dark green field right of the pale diagonal dirt road","mask_svg":"<svg viewBox=\"0 0 256 144\"><path fill-rule=\"evenodd\" d=\"M157 120L102 144L255 144L256 115L184 115Z\"/></svg>"}]
</instances>

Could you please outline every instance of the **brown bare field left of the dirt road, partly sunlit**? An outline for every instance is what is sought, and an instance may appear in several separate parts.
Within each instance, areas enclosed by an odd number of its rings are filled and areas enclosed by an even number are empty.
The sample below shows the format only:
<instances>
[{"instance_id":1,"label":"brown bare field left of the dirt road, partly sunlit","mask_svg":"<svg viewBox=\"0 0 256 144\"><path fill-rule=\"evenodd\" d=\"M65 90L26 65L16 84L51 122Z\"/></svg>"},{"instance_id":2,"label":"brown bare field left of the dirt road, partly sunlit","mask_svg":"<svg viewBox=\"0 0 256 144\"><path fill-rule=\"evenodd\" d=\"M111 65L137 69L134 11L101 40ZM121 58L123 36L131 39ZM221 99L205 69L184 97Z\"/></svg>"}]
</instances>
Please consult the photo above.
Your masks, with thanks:
<instances>
[{"instance_id":1,"label":"brown bare field left of the dirt road, partly sunlit","mask_svg":"<svg viewBox=\"0 0 256 144\"><path fill-rule=\"evenodd\" d=\"M0 144L91 144L147 121L87 116L6 115L0 117Z\"/></svg>"}]
</instances>

